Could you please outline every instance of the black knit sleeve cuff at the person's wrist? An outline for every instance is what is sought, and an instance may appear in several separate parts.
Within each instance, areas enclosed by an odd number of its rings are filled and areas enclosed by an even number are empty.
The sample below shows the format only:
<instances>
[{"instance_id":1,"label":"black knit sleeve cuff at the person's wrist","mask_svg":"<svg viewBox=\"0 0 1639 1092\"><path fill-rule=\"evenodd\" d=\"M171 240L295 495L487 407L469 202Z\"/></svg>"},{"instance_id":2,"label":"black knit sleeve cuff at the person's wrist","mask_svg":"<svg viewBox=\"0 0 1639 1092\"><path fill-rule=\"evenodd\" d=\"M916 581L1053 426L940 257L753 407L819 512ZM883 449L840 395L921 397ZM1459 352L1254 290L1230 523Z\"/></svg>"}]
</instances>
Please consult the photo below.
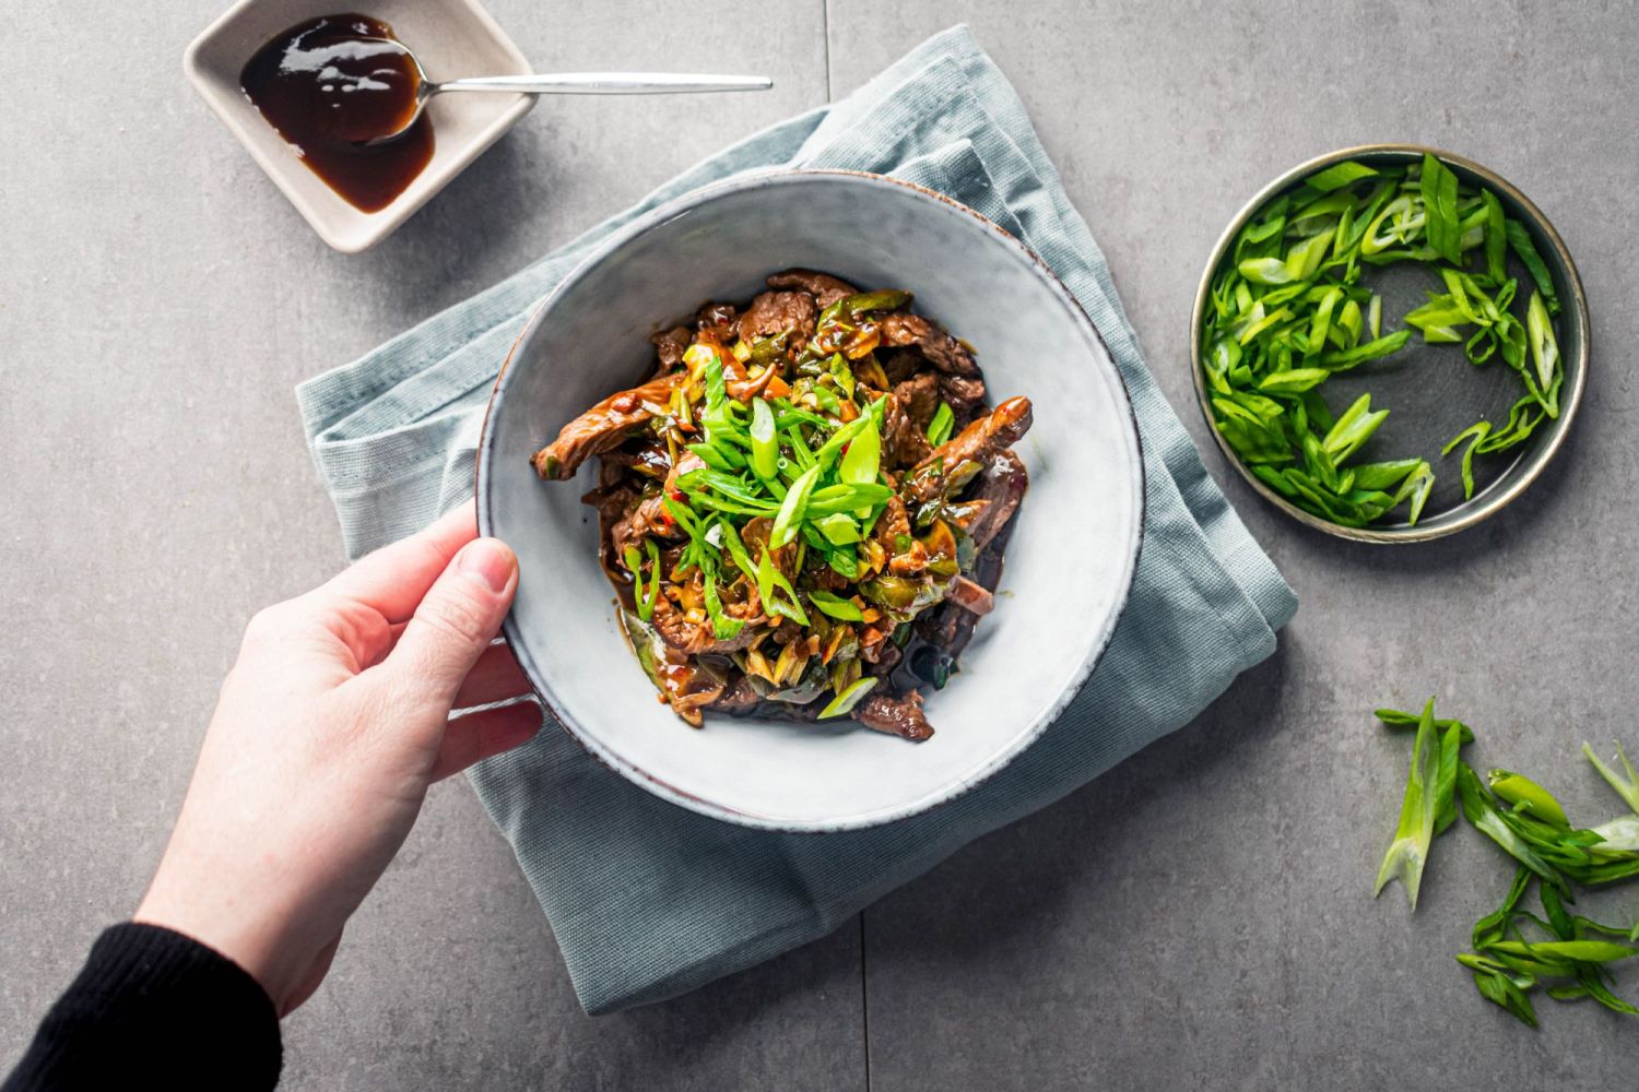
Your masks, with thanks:
<instances>
[{"instance_id":1,"label":"black knit sleeve cuff at the person's wrist","mask_svg":"<svg viewBox=\"0 0 1639 1092\"><path fill-rule=\"evenodd\" d=\"M0 1092L272 1089L279 1013L211 948L157 925L103 932Z\"/></svg>"}]
</instances>

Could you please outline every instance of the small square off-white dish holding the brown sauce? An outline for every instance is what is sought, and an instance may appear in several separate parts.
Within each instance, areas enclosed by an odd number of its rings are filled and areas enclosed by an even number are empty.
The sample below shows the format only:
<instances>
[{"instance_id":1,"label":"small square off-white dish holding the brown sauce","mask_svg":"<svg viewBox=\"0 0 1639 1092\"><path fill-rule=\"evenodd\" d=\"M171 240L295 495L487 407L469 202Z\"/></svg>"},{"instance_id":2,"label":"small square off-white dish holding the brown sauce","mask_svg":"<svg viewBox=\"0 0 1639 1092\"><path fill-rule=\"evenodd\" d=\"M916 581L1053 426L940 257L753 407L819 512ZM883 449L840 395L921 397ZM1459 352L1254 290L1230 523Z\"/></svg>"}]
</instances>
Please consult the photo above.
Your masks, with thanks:
<instances>
[{"instance_id":1,"label":"small square off-white dish holding the brown sauce","mask_svg":"<svg viewBox=\"0 0 1639 1092\"><path fill-rule=\"evenodd\" d=\"M313 174L239 87L244 62L280 31L349 10L346 0L241 0L193 39L182 67L205 103L325 242L343 254L367 250L406 221L534 105L528 95L439 95L426 105L433 159L375 213L349 205ZM393 28L433 80L526 75L518 46L477 0L372 0L372 18Z\"/></svg>"}]
</instances>

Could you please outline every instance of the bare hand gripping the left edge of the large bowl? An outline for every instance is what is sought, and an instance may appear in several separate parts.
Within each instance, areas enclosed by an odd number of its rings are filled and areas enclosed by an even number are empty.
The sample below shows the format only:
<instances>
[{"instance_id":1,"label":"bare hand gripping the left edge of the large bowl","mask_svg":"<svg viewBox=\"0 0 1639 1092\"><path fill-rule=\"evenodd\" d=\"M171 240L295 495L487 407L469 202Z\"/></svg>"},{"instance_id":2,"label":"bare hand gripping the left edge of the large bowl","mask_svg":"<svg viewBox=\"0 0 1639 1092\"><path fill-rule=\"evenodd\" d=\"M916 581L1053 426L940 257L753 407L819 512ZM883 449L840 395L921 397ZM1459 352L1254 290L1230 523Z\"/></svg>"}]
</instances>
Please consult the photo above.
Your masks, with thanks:
<instances>
[{"instance_id":1,"label":"bare hand gripping the left edge of the large bowl","mask_svg":"<svg viewBox=\"0 0 1639 1092\"><path fill-rule=\"evenodd\" d=\"M249 971L279 1015L306 1000L433 781L531 738L534 702L490 645L518 560L472 504L251 619L136 920Z\"/></svg>"}]
</instances>

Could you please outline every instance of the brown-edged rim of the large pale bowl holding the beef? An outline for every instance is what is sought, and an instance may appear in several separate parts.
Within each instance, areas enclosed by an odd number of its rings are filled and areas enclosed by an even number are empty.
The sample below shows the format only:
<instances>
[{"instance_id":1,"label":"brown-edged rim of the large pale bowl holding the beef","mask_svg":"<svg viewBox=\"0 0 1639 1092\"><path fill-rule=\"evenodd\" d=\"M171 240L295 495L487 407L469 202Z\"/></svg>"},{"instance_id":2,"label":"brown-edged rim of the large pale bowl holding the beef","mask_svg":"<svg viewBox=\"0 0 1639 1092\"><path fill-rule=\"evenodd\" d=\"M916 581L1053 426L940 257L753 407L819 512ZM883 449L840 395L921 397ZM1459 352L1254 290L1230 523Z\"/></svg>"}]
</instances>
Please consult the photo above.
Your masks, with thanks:
<instances>
[{"instance_id":1,"label":"brown-edged rim of the large pale bowl holding the beef","mask_svg":"<svg viewBox=\"0 0 1639 1092\"><path fill-rule=\"evenodd\" d=\"M1131 601L1133 583L1137 575L1139 555L1142 552L1144 542L1144 519L1147 514L1147 496L1146 496L1146 480L1144 480L1144 444L1139 431L1137 413L1133 404L1133 395L1128 390L1126 378L1121 375L1121 368L1116 363L1115 354L1105 342L1103 334L1087 316L1085 308L1075 295L1064 285L1064 282L1052 272L1052 268L1039 257L1034 250L1024 246L1018 237L1003 229L1000 224L993 223L977 210L944 195L936 190L906 182L901 178L892 178L888 175L864 172L864 170L842 170L842 169L816 169L816 167L788 167L774 170L757 170L744 175L734 175L723 178L720 182L700 187L683 196L665 201L664 205L651 210L644 216L636 218L624 228L610 234L598 247L595 247L585 259L582 259L559 283L557 287L536 305L524 327L518 332L513 341L511 349L506 352L506 359L502 363L500 373L495 377L495 383L490 388L490 399L484 413L484 427L479 437L479 445L475 452L477 473L474 480L474 493L477 501L477 521L479 534L493 534L495 524L492 517L492 467L493 467L493 444L495 429L492 427L497 406L508 385L508 377L513 373L511 363L518 357L518 350L529 339L529 336L539 327L543 318L551 311L552 305L561 295L564 295L572 285L587 277L593 267L606 260L613 252L644 234L646 231L664 224L679 214L705 205L708 201L720 200L731 193L741 190L760 188L767 185L788 185L811 182L815 178L833 178L838 182L857 183L857 185L877 185L887 187L900 192L911 193L913 196L944 205L951 211L964 213L970 216L977 224L987 228L990 234L1003 246L1015 250L1016 255L1026 259L1026 268L1031 268L1039 277L1046 280L1049 288L1054 291L1056 298L1065 308L1070 321L1082 327L1085 336L1090 336L1092 342L1105 354L1108 362L1110 377L1115 380L1115 391L1126 409L1124 414L1124 435L1131 455L1131 480L1128 486L1134 496L1134 519L1131 542L1128 548L1123 550L1123 571L1119 575L1119 584L1116 589L1116 598L1113 609L1105 619L1103 629L1093 637L1088 645L1087 655L1082 663L1077 665L1072 678L1067 681L1064 689L1054 696L1054 699L1029 722L1029 725L1016 735L1005 748L993 753L988 760L978 763L977 766L965 771L960 778L934 789L921 797L897 804L892 807L877 809L872 812L847 814L841 817L829 819L792 819L792 817L775 817L760 815L747 810L741 810L723 804L720 801L708 801L697 794L657 778L656 774L642 769L629 758L616 753L613 748L597 740L588 733L567 709L557 694L547 686L543 671L534 661L534 655L528 648L528 643L521 639L521 632L516 622L516 616L508 611L506 619L502 622L502 632L506 637L513 655L518 658L524 676L529 679L531 688L539 697L541 704L557 719L564 732L569 733L585 751L597 760L600 765L621 774L633 784L647 789L651 794L685 807L692 812L706 815L710 819L731 822L742 827L752 827L759 830L770 830L780 833L839 833L847 830L862 830L867 827L877 827L882 824L895 822L900 819L908 819L928 812L934 807L947 804L964 792L983 784L998 771L1001 771L1008 763L1011 763L1018 755L1024 753L1037 738L1047 730L1049 725L1057 720L1059 714L1075 699L1075 696L1087 684L1093 670L1103 660L1105 652L1110 648L1110 642L1115 635L1116 625L1126 614L1126 607Z\"/></svg>"}]
</instances>

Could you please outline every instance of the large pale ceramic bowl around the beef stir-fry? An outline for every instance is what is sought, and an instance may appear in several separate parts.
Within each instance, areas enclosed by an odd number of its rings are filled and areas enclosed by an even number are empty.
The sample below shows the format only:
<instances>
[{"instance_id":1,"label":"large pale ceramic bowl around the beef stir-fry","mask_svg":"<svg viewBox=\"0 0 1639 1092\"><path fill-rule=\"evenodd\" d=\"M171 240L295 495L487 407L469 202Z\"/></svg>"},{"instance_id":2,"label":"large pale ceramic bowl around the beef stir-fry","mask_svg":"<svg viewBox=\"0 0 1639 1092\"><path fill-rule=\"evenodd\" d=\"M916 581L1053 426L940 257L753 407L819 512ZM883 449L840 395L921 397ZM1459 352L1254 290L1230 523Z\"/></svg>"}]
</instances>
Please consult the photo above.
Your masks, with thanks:
<instances>
[{"instance_id":1,"label":"large pale ceramic bowl around the beef stir-fry","mask_svg":"<svg viewBox=\"0 0 1639 1092\"><path fill-rule=\"evenodd\" d=\"M539 481L529 453L654 367L649 334L706 300L742 301L803 265L862 288L908 288L969 341L992 399L1028 395L1016 449L1031 488L997 609L929 691L936 733L908 743L851 720L706 715L656 701L621 639L580 503L595 468ZM1126 602L1144 481L1126 390L1075 300L978 213L879 175L736 178L656 210L605 242L529 321L479 445L479 527L518 552L506 639L541 697L597 758L675 804L751 827L847 830L926 810L1031 743L1092 673Z\"/></svg>"}]
</instances>

